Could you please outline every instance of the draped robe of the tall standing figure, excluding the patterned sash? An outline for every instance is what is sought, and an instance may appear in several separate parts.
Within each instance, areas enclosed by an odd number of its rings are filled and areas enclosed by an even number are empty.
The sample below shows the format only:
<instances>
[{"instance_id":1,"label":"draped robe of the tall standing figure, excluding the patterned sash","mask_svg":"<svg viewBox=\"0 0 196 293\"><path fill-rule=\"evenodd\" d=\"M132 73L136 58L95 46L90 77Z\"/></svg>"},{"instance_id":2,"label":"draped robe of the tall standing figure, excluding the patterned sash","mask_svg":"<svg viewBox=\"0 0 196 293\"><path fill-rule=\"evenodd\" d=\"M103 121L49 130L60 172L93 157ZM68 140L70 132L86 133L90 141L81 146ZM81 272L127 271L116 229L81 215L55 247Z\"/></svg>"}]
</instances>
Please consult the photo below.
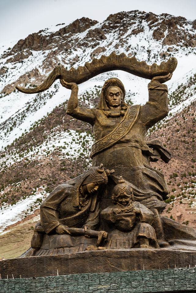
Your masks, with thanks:
<instances>
[{"instance_id":1,"label":"draped robe of the tall standing figure, excluding the patterned sash","mask_svg":"<svg viewBox=\"0 0 196 293\"><path fill-rule=\"evenodd\" d=\"M112 146L96 153L92 165L102 163L105 168L114 169L115 176L122 175L131 183L136 201L161 212L165 208L163 200L168 198L167 183L160 171L150 167L152 149L146 145L145 134L150 127L167 116L168 89L164 84L150 82L148 90L149 101L139 106L139 113L129 132ZM98 108L77 107L68 114L89 122L93 126L95 141L107 136L123 119L123 116L107 117L104 110Z\"/></svg>"}]
</instances>

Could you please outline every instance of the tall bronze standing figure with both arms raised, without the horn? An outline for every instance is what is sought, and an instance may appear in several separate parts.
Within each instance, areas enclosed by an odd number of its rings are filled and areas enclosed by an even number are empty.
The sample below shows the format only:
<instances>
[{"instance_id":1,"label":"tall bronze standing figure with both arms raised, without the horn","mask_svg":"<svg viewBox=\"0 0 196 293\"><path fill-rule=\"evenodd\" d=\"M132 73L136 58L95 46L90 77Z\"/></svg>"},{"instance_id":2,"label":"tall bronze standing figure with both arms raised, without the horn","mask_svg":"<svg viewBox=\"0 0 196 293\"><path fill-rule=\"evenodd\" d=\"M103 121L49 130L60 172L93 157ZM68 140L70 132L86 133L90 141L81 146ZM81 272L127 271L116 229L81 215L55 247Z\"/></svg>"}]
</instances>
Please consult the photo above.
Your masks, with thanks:
<instances>
[{"instance_id":1,"label":"tall bronze standing figure with both arms raised, without the horn","mask_svg":"<svg viewBox=\"0 0 196 293\"><path fill-rule=\"evenodd\" d=\"M155 215L153 227L161 246L164 240L159 213L168 198L165 176L150 167L147 157L153 154L145 141L147 130L168 114L168 89L161 84L172 74L154 77L148 85L149 101L144 105L128 105L124 102L124 85L118 78L109 78L102 88L97 108L78 106L78 86L61 80L61 85L71 89L67 114L89 122L93 126L95 143L92 146L92 165L104 163L114 168L115 175L122 174L131 183L135 199L150 208ZM126 158L126 159L125 159Z\"/></svg>"}]
</instances>

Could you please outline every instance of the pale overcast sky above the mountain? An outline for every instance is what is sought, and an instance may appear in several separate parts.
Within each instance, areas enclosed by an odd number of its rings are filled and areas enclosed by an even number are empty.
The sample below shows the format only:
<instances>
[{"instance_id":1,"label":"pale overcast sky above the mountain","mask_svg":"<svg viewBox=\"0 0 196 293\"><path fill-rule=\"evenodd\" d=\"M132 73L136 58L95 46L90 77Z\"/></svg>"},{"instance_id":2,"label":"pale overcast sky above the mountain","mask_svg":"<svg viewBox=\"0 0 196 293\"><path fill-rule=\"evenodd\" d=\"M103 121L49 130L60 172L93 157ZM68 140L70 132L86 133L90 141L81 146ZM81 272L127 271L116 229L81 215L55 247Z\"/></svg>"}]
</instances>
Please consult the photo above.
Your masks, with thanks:
<instances>
[{"instance_id":1,"label":"pale overcast sky above the mountain","mask_svg":"<svg viewBox=\"0 0 196 293\"><path fill-rule=\"evenodd\" d=\"M196 2L187 0L6 0L0 1L0 43L25 38L51 25L70 22L83 16L103 21L109 14L141 10L169 13L195 19Z\"/></svg>"}]
</instances>

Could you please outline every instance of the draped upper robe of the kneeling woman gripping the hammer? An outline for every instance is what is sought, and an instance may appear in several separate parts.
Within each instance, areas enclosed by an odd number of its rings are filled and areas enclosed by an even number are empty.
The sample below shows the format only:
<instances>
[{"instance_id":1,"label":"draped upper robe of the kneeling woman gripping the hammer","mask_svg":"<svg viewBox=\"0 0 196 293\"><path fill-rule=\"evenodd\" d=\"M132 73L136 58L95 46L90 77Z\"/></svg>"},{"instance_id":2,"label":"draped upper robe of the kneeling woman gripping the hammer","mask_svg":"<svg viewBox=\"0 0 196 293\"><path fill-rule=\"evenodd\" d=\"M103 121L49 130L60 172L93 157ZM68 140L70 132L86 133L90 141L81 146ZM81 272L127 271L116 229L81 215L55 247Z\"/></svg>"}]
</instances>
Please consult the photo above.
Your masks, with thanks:
<instances>
[{"instance_id":1,"label":"draped upper robe of the kneeling woman gripping the hammer","mask_svg":"<svg viewBox=\"0 0 196 293\"><path fill-rule=\"evenodd\" d=\"M99 203L97 194L81 195L78 192L81 208L74 206L73 190L78 190L84 176L91 174L91 168L85 174L58 185L40 206L41 226L46 233L54 233L55 228L60 225L82 228L89 226L94 230L99 223Z\"/></svg>"}]
</instances>

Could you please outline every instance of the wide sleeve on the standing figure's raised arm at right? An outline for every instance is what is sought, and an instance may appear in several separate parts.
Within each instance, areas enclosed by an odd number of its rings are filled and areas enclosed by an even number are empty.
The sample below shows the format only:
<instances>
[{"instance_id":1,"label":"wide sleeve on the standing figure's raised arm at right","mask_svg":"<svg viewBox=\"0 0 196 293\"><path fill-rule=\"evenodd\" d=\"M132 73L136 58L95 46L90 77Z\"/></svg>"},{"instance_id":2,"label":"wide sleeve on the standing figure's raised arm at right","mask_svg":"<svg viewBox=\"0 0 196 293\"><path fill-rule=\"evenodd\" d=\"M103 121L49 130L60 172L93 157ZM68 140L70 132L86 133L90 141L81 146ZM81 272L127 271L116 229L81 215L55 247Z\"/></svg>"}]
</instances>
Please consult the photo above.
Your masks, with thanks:
<instances>
[{"instance_id":1,"label":"wide sleeve on the standing figure's raised arm at right","mask_svg":"<svg viewBox=\"0 0 196 293\"><path fill-rule=\"evenodd\" d=\"M167 85L150 82L148 84L149 100L141 107L141 121L150 128L168 115Z\"/></svg>"}]
</instances>

